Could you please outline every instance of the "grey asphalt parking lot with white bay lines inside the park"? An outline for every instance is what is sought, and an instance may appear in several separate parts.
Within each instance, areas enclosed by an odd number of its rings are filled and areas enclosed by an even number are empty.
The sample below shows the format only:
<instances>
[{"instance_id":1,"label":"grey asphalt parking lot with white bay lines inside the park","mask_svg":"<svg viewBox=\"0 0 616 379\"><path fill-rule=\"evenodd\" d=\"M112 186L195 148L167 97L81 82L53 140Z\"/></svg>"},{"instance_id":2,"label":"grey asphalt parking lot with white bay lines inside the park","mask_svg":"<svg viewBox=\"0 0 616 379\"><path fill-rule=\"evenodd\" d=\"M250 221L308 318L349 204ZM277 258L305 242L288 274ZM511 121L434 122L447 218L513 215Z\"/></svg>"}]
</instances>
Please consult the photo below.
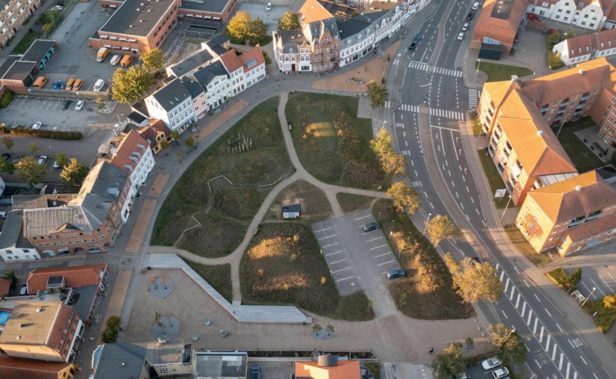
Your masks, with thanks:
<instances>
[{"instance_id":1,"label":"grey asphalt parking lot with white bay lines inside the park","mask_svg":"<svg viewBox=\"0 0 616 379\"><path fill-rule=\"evenodd\" d=\"M363 231L375 221L366 209L314 223L312 230L341 295L363 289L375 312L395 311L385 285L387 272L399 263L381 229Z\"/></svg>"}]
</instances>

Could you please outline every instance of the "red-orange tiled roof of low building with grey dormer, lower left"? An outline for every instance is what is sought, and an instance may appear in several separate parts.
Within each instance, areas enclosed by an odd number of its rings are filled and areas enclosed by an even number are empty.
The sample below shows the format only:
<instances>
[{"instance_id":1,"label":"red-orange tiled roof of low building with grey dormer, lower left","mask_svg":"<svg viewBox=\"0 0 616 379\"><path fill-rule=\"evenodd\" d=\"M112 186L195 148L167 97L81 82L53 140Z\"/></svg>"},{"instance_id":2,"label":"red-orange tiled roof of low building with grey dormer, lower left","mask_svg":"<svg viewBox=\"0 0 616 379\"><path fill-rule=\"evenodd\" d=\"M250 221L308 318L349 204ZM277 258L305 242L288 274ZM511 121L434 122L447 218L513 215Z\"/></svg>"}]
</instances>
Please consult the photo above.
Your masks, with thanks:
<instances>
[{"instance_id":1,"label":"red-orange tiled roof of low building with grey dormer, lower left","mask_svg":"<svg viewBox=\"0 0 616 379\"><path fill-rule=\"evenodd\" d=\"M107 265L84 265L70 267L38 268L28 274L28 293L36 293L47 289L47 279L50 276L64 276L67 288L77 288L84 285L100 283L99 273L107 271Z\"/></svg>"}]
</instances>

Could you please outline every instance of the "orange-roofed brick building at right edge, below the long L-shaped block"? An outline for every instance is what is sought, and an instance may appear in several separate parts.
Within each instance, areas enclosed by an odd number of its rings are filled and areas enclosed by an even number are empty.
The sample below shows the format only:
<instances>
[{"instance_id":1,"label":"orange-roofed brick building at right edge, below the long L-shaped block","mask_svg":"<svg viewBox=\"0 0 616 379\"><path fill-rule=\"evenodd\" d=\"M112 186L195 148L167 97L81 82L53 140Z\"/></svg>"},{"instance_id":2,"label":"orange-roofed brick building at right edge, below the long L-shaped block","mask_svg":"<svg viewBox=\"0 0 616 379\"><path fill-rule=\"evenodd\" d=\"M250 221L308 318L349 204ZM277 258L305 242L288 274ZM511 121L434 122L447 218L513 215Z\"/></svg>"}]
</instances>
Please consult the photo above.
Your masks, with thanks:
<instances>
[{"instance_id":1,"label":"orange-roofed brick building at right edge, below the long L-shaped block","mask_svg":"<svg viewBox=\"0 0 616 379\"><path fill-rule=\"evenodd\" d=\"M516 225L538 253L562 257L616 237L616 191L598 172L586 172L532 191Z\"/></svg>"}]
</instances>

